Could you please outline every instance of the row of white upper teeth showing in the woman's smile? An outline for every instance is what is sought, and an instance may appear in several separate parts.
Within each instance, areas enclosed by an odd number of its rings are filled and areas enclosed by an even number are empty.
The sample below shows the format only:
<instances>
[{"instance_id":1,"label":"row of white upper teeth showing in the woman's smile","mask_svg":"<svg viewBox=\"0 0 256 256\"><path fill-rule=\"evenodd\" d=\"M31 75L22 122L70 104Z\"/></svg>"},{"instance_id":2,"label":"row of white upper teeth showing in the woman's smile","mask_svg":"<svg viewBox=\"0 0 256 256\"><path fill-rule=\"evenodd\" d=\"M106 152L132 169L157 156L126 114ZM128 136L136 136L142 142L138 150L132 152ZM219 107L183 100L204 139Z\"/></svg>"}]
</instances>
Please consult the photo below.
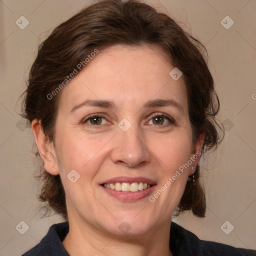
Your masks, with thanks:
<instances>
[{"instance_id":1,"label":"row of white upper teeth showing in the woman's smile","mask_svg":"<svg viewBox=\"0 0 256 256\"><path fill-rule=\"evenodd\" d=\"M150 187L150 184L143 183L143 182L133 182L133 183L126 183L126 182L116 182L116 183L109 183L109 184L103 184L104 187L115 189L117 191L123 191L123 192L137 192L138 190L147 189Z\"/></svg>"}]
</instances>

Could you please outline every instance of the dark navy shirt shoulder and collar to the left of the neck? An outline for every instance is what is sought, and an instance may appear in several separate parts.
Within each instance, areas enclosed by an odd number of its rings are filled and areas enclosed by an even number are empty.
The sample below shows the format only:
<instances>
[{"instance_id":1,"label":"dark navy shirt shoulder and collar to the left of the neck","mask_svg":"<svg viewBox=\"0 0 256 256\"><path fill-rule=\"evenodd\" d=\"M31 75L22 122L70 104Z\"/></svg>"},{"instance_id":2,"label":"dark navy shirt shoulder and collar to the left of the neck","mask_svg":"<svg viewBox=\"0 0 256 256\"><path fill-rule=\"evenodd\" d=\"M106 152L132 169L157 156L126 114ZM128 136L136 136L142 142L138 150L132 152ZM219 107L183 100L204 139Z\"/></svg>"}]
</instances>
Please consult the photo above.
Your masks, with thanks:
<instances>
[{"instance_id":1,"label":"dark navy shirt shoulder and collar to the left of the neck","mask_svg":"<svg viewBox=\"0 0 256 256\"><path fill-rule=\"evenodd\" d=\"M53 224L41 241L21 256L68 256L62 245L67 233L68 222Z\"/></svg>"}]
</instances>

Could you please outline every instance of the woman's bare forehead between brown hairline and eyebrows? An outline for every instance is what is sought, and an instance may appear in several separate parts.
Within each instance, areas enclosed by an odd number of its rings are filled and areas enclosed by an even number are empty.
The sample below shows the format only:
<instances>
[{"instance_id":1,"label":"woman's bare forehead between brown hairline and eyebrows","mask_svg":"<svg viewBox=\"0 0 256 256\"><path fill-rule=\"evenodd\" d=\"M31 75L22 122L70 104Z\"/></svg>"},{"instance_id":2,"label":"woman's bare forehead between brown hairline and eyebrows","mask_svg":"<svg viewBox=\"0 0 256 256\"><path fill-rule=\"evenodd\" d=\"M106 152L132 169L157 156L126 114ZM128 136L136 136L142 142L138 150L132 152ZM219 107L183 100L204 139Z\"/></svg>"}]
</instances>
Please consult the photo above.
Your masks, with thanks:
<instances>
[{"instance_id":1,"label":"woman's bare forehead between brown hairline and eyebrows","mask_svg":"<svg viewBox=\"0 0 256 256\"><path fill-rule=\"evenodd\" d=\"M157 45L114 45L99 51L62 91L60 105L72 108L87 99L111 100L121 107L140 107L154 99L174 99L187 109L182 76Z\"/></svg>"}]
</instances>

